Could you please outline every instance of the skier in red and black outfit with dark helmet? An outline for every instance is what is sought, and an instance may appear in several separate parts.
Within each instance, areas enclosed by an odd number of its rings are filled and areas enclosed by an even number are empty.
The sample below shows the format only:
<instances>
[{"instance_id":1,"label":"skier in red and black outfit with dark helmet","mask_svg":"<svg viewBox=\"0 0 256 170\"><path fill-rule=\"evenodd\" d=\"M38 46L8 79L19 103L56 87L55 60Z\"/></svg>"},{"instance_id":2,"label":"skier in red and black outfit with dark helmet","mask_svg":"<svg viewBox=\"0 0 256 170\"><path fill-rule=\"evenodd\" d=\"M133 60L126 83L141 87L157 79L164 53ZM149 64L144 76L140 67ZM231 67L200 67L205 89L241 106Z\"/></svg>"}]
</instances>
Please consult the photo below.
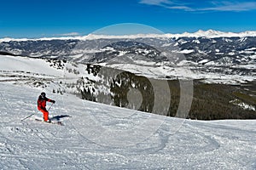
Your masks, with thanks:
<instances>
[{"instance_id":1,"label":"skier in red and black outfit with dark helmet","mask_svg":"<svg viewBox=\"0 0 256 170\"><path fill-rule=\"evenodd\" d=\"M55 100L46 98L46 94L42 92L41 95L38 96L38 111L42 111L45 122L50 122L48 117L49 112L45 108L47 101L55 104Z\"/></svg>"}]
</instances>

